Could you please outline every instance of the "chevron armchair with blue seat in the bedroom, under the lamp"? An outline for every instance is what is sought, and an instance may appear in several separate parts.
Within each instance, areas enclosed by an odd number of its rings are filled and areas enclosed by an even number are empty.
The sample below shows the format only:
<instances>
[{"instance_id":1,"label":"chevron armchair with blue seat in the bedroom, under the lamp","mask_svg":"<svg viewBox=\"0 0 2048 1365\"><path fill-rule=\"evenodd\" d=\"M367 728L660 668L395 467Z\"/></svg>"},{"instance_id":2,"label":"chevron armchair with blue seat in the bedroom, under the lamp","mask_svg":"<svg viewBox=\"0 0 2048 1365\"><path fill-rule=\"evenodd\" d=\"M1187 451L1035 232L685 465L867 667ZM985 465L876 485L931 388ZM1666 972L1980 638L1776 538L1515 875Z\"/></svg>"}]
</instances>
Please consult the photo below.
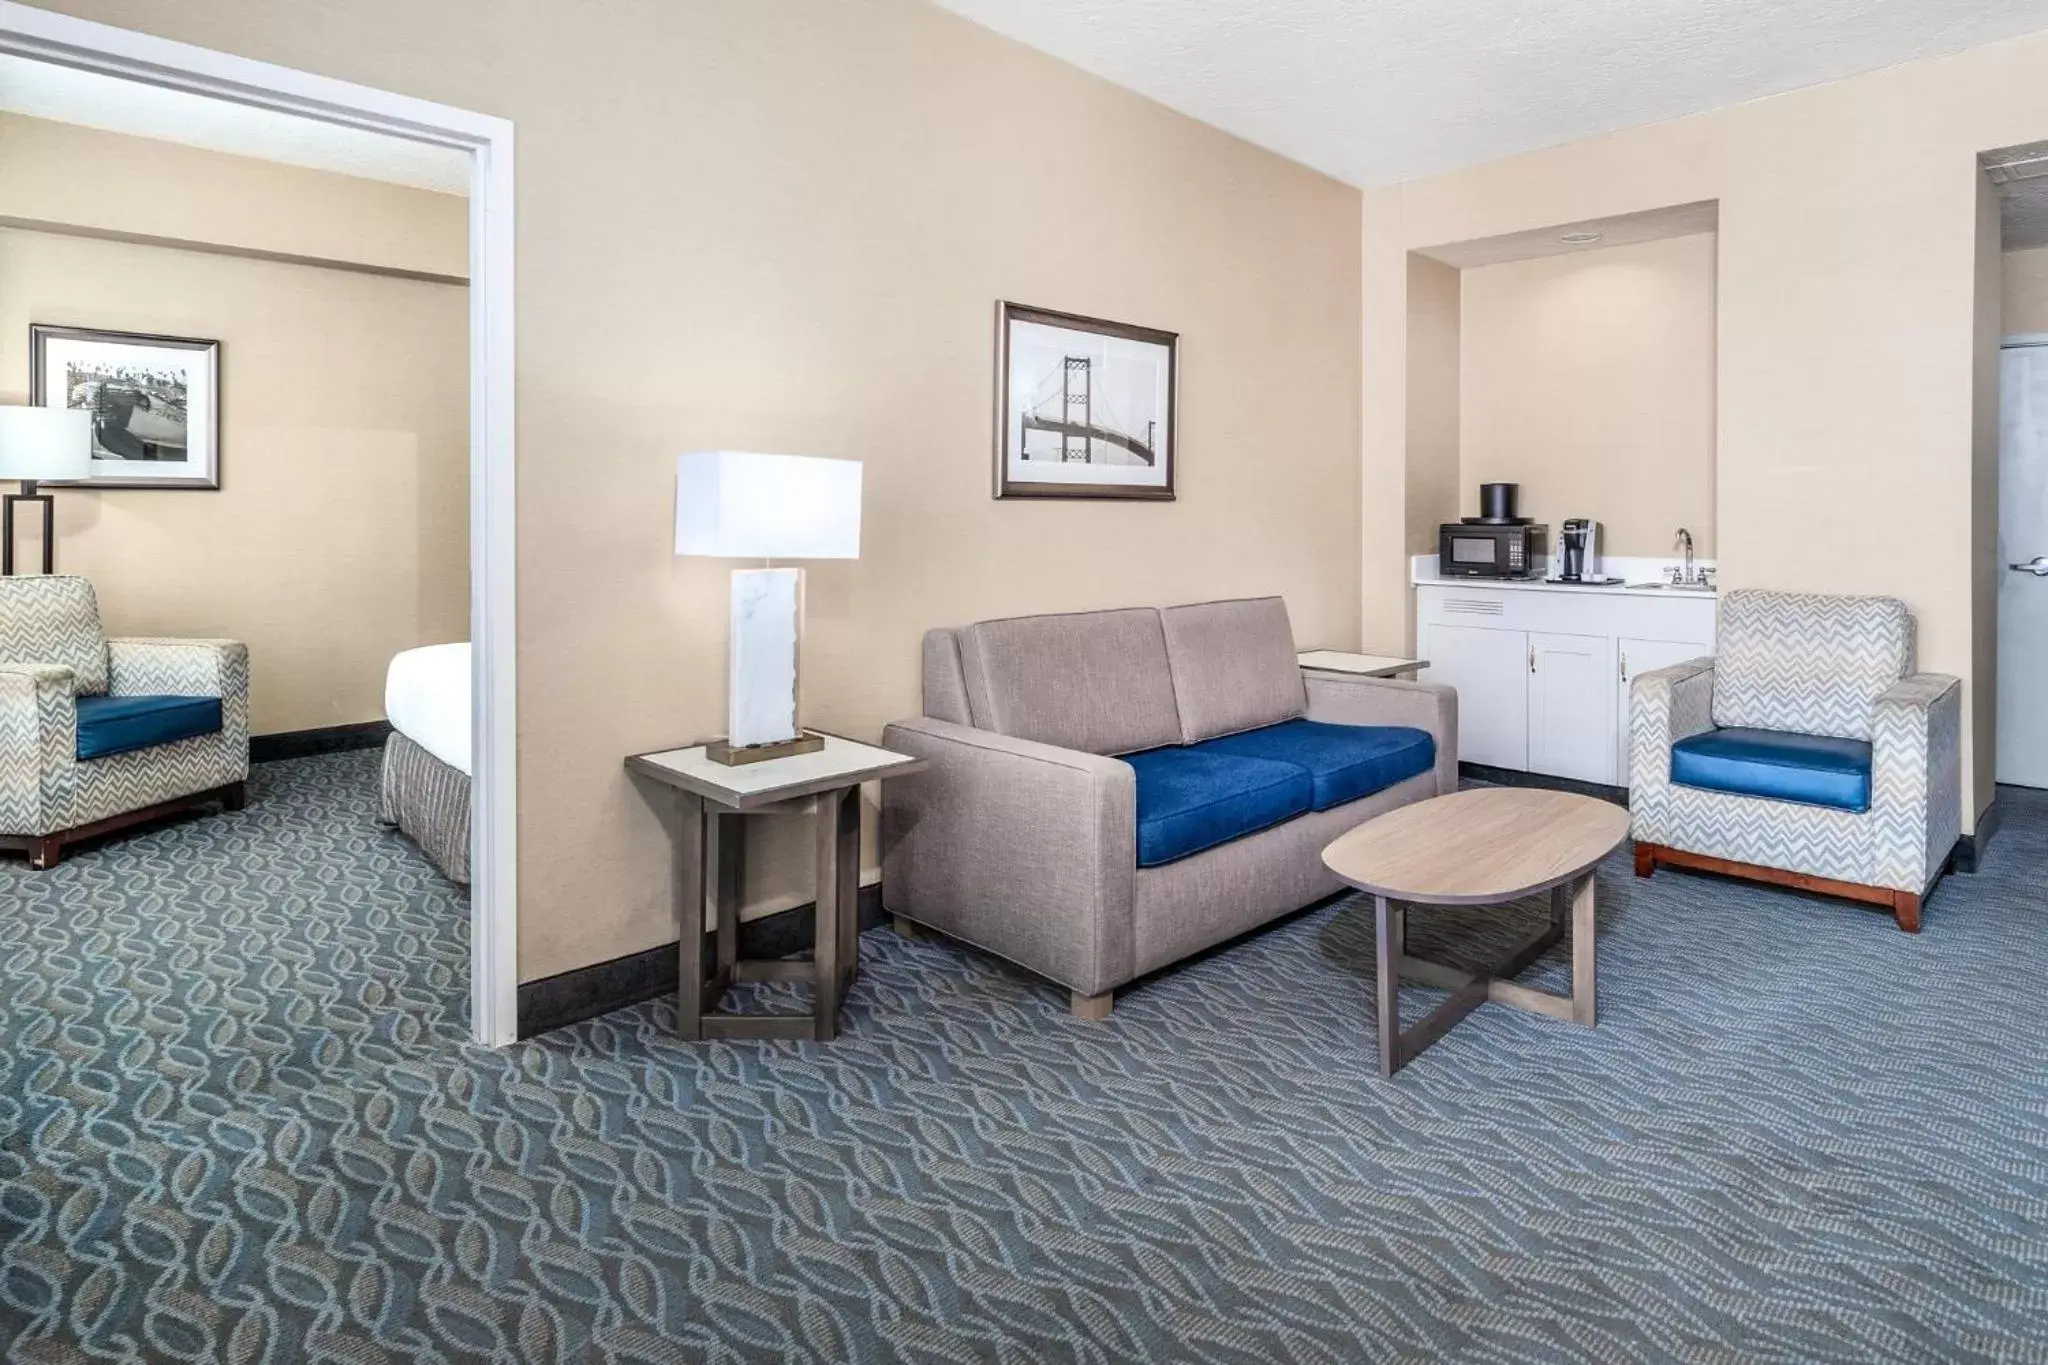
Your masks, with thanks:
<instances>
[{"instance_id":1,"label":"chevron armchair with blue seat in the bedroom, under the lamp","mask_svg":"<svg viewBox=\"0 0 2048 1365\"><path fill-rule=\"evenodd\" d=\"M0 579L0 847L41 870L172 810L240 810L248 698L238 641L109 641L86 579Z\"/></svg>"}]
</instances>

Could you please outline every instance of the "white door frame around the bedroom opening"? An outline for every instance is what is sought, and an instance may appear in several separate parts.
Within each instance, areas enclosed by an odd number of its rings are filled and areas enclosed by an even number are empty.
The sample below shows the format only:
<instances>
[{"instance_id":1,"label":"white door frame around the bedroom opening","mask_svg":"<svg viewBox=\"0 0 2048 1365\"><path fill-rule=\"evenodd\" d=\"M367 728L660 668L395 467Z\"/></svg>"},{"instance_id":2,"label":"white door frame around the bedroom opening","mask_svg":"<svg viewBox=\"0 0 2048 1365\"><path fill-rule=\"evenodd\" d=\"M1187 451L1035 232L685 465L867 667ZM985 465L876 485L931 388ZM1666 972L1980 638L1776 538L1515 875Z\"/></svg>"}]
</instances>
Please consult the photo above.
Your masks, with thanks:
<instances>
[{"instance_id":1,"label":"white door frame around the bedroom opening","mask_svg":"<svg viewBox=\"0 0 2048 1365\"><path fill-rule=\"evenodd\" d=\"M0 0L0 53L459 147L469 176L469 1017L518 1036L518 767L512 505L512 125L70 14Z\"/></svg>"}]
</instances>

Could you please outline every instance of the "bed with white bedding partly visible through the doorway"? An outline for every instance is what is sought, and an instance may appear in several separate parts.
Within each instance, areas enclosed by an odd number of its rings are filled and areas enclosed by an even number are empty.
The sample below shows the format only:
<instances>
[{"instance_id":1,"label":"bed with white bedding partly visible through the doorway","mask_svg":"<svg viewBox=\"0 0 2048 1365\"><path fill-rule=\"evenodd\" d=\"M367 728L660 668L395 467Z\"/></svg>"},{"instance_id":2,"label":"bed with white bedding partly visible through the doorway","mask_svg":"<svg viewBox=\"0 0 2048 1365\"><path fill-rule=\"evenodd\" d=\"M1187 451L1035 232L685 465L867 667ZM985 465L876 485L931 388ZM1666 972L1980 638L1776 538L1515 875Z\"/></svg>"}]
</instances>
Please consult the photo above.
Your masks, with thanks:
<instances>
[{"instance_id":1,"label":"bed with white bedding partly visible through the doorway","mask_svg":"<svg viewBox=\"0 0 2048 1365\"><path fill-rule=\"evenodd\" d=\"M385 673L381 819L451 882L469 882L469 645L428 645Z\"/></svg>"}]
</instances>

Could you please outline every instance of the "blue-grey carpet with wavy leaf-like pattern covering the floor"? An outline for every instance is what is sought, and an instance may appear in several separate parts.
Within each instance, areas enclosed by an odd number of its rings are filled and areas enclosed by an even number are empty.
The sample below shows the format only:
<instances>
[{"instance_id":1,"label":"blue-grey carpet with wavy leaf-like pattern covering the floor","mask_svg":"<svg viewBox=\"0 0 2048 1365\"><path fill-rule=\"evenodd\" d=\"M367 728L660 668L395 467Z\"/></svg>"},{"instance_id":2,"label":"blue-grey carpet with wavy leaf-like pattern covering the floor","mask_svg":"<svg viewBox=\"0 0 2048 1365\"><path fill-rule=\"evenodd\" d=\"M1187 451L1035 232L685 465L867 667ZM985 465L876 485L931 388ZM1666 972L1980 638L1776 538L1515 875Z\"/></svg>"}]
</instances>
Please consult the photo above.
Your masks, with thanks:
<instances>
[{"instance_id":1,"label":"blue-grey carpet with wavy leaf-like pattern covering the floor","mask_svg":"<svg viewBox=\"0 0 2048 1365\"><path fill-rule=\"evenodd\" d=\"M1917 939L1616 857L1597 1031L1386 1083L1356 900L1102 1025L870 933L838 1044L475 1050L373 778L0 862L6 1361L2048 1359L2048 798Z\"/></svg>"}]
</instances>

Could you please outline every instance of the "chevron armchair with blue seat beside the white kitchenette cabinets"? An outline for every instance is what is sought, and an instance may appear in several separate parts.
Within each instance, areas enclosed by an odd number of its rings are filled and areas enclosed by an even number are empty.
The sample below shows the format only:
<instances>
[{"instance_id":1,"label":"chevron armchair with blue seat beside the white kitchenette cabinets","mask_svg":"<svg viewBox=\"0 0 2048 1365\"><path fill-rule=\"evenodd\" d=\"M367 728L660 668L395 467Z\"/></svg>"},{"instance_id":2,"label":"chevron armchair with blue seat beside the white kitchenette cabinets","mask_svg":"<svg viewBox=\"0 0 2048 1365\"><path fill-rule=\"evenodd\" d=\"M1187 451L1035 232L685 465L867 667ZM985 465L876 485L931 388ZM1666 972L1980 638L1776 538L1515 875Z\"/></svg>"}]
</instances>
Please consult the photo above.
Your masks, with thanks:
<instances>
[{"instance_id":1,"label":"chevron armchair with blue seat beside the white kitchenette cabinets","mask_svg":"<svg viewBox=\"0 0 2048 1365\"><path fill-rule=\"evenodd\" d=\"M1962 837L1962 684L1913 671L1905 602L1731 591L1716 649L1634 679L1636 876L1731 872L1917 933Z\"/></svg>"}]
</instances>

